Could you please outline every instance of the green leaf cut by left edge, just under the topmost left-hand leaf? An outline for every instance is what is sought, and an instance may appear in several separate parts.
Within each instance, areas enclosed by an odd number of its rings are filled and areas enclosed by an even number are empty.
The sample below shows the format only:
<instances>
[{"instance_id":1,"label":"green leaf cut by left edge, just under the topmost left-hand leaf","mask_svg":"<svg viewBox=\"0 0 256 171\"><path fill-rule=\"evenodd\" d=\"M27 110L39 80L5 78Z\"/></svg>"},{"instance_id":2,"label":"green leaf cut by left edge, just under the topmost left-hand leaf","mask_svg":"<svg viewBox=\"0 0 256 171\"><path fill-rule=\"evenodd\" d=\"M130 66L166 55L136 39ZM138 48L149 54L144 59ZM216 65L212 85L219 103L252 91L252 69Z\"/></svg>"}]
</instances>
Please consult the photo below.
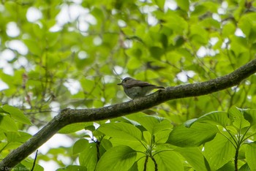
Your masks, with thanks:
<instances>
[{"instance_id":1,"label":"green leaf cut by left edge, just under the topmost left-hand leaf","mask_svg":"<svg viewBox=\"0 0 256 171\"><path fill-rule=\"evenodd\" d=\"M18 132L15 121L9 115L0 115L0 129L7 132Z\"/></svg>"}]
</instances>

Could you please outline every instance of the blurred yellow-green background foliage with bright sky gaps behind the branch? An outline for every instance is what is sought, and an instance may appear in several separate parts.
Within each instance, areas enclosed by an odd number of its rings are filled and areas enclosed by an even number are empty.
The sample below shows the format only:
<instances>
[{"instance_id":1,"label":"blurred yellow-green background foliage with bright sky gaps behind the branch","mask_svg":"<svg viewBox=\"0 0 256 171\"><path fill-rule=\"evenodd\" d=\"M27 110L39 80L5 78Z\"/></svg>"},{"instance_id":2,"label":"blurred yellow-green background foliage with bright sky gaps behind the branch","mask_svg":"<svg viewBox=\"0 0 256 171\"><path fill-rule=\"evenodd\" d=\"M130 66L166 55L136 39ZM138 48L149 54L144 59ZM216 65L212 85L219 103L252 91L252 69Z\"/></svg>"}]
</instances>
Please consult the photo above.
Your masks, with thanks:
<instances>
[{"instance_id":1,"label":"blurred yellow-green background foliage with bright sky gaps behind the branch","mask_svg":"<svg viewBox=\"0 0 256 171\"><path fill-rule=\"evenodd\" d=\"M129 100L116 85L127 76L166 87L227 75L255 58L255 8L246 0L1 0L1 104L40 127L66 107ZM255 82L152 110L177 125L255 108Z\"/></svg>"}]
</instances>

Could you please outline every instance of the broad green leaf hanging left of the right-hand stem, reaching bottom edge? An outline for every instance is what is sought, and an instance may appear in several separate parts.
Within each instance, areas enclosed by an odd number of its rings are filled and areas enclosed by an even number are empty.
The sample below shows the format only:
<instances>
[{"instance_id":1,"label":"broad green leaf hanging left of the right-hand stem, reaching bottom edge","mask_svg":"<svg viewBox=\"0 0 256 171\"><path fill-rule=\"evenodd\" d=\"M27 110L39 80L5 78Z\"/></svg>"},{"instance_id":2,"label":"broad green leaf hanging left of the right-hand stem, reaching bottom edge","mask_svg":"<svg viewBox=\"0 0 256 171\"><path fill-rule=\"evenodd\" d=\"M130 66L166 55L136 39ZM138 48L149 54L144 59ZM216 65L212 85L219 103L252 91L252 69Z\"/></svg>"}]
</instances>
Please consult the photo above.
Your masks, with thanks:
<instances>
[{"instance_id":1,"label":"broad green leaf hanging left of the right-hand stem, reaching bottom edge","mask_svg":"<svg viewBox=\"0 0 256 171\"><path fill-rule=\"evenodd\" d=\"M203 154L206 156L211 170L217 170L235 157L236 149L222 134L217 134L214 140L206 142Z\"/></svg>"}]
</instances>

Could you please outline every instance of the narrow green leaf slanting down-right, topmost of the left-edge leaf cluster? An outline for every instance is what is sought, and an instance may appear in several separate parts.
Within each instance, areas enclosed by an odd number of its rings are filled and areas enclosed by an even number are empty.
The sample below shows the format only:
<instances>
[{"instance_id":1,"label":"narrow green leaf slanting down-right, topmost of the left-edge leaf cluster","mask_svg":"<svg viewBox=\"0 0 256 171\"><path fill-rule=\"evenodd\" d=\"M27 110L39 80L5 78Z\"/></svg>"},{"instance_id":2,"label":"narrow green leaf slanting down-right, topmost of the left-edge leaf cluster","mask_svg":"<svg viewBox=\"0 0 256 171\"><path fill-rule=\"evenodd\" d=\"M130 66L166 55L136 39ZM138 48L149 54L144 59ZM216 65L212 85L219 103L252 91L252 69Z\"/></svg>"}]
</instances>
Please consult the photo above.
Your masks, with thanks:
<instances>
[{"instance_id":1,"label":"narrow green leaf slanting down-right, topmost of the left-edge leaf cluster","mask_svg":"<svg viewBox=\"0 0 256 171\"><path fill-rule=\"evenodd\" d=\"M8 104L5 104L3 107L1 107L5 112L10 113L12 118L15 118L17 121L21 122L21 123L26 123L31 125L31 121L29 121L29 118L26 117L26 115L23 114L23 112L21 112L21 110L19 110L16 107L12 107Z\"/></svg>"}]
</instances>

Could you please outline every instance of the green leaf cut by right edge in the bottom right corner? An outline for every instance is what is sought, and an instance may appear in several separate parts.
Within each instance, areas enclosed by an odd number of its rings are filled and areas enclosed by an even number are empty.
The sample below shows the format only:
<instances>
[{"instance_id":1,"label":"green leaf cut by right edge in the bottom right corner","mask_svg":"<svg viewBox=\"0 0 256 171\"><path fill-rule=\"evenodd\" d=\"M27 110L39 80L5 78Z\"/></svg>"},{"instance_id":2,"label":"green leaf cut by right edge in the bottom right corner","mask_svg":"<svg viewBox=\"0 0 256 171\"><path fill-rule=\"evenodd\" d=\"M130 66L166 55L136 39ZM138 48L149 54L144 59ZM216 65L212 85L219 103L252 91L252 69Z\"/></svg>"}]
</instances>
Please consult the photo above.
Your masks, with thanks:
<instances>
[{"instance_id":1,"label":"green leaf cut by right edge in the bottom right corner","mask_svg":"<svg viewBox=\"0 0 256 171\"><path fill-rule=\"evenodd\" d=\"M250 169L256 170L256 142L246 144L245 156Z\"/></svg>"}]
</instances>

